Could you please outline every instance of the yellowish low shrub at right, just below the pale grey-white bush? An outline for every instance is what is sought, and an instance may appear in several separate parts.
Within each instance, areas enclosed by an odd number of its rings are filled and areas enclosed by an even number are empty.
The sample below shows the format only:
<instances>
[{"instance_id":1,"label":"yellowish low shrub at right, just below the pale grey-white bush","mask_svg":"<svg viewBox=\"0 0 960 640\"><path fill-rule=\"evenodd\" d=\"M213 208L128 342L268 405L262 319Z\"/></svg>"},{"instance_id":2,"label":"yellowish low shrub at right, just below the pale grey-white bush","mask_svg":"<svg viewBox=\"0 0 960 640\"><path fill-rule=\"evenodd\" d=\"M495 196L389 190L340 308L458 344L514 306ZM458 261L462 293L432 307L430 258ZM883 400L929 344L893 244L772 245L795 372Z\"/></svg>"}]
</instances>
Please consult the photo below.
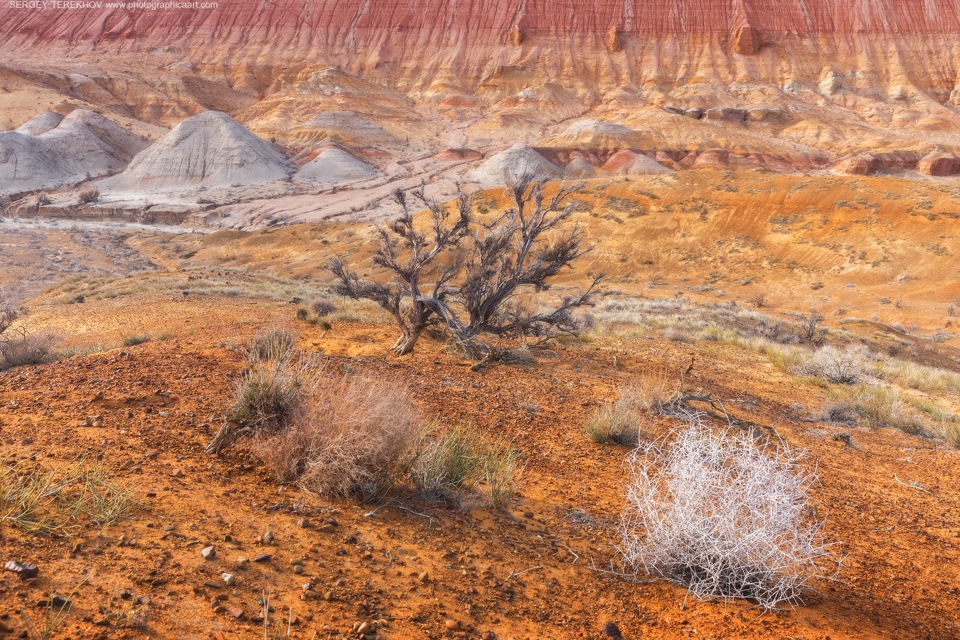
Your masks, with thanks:
<instances>
[{"instance_id":1,"label":"yellowish low shrub at right, just below the pale grey-white bush","mask_svg":"<svg viewBox=\"0 0 960 640\"><path fill-rule=\"evenodd\" d=\"M820 419L838 424L855 424L871 429L892 427L909 434L925 433L926 427L891 387L858 384L835 390L820 409Z\"/></svg>"}]
</instances>

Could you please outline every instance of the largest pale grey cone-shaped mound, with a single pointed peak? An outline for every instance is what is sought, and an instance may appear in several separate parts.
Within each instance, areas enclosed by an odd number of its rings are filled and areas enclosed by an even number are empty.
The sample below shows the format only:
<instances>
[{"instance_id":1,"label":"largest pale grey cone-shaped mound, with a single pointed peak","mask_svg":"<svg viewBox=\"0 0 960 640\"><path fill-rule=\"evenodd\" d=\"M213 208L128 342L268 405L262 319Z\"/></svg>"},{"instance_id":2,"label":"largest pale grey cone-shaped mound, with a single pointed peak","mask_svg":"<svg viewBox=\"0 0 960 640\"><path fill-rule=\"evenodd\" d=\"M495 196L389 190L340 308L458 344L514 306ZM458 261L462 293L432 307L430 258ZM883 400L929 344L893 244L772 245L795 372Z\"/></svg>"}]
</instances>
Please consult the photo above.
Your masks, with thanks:
<instances>
[{"instance_id":1,"label":"largest pale grey cone-shaped mound, with a single pointed peak","mask_svg":"<svg viewBox=\"0 0 960 640\"><path fill-rule=\"evenodd\" d=\"M270 143L225 113L208 111L181 122L103 186L176 191L271 182L292 174L293 166Z\"/></svg>"}]
</instances>

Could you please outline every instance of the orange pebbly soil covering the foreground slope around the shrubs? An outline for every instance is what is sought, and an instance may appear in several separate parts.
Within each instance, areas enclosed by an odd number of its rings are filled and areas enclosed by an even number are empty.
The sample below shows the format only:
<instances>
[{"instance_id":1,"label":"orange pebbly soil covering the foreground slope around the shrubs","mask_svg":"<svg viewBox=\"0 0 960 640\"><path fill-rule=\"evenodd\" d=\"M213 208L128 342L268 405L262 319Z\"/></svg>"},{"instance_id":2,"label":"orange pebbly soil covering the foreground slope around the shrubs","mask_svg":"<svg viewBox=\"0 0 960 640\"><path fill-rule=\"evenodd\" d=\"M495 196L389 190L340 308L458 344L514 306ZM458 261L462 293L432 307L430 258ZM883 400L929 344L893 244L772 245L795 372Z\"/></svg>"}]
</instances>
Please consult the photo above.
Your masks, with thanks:
<instances>
[{"instance_id":1,"label":"orange pebbly soil covering the foreground slope around the shrubs","mask_svg":"<svg viewBox=\"0 0 960 640\"><path fill-rule=\"evenodd\" d=\"M136 517L102 534L89 527L57 539L4 526L0 559L40 566L40 576L26 582L0 573L0 621L14 630L23 627L18 610L37 620L37 601L86 579L62 637L259 637L256 599L263 593L277 618L285 621L292 609L295 638L356 637L349 633L354 625L372 620L382 622L387 638L477 638L488 630L498 638L598 638L608 620L627 638L960 634L958 453L891 430L853 430L856 448L834 441L837 428L806 419L822 391L761 356L710 343L601 339L558 345L555 358L536 366L477 373L429 341L413 356L385 356L389 326L337 323L323 333L297 325L301 345L322 352L330 372L402 380L428 418L470 420L523 452L522 496L510 513L479 498L462 511L450 509L405 487L377 508L280 486L239 445L221 456L203 453L242 370L230 345L289 317L289 307L128 300L124 309L104 301L59 307L59 314L64 323L101 327L104 340L114 313L143 310L147 330L167 314L209 311L209 320L163 341L0 373L6 460L35 455L57 465L84 453L102 456L142 492ZM816 506L846 561L840 581L819 585L803 606L764 613L604 572L615 560L625 450L592 443L583 419L639 373L679 372L691 356L690 387L735 399L730 406L742 425L807 449L819 468ZM90 415L102 416L102 427L80 426ZM651 417L646 433L655 437L674 425ZM309 527L299 526L302 518ZM330 518L337 526L322 531ZM275 544L258 543L268 530ZM201 557L206 544L216 546L215 559ZM235 567L238 556L260 553L272 558ZM223 572L236 575L233 586L223 586ZM149 596L148 631L93 624L101 617L95 598L117 589ZM211 607L216 598L225 612ZM461 630L447 629L445 620Z\"/></svg>"}]
</instances>

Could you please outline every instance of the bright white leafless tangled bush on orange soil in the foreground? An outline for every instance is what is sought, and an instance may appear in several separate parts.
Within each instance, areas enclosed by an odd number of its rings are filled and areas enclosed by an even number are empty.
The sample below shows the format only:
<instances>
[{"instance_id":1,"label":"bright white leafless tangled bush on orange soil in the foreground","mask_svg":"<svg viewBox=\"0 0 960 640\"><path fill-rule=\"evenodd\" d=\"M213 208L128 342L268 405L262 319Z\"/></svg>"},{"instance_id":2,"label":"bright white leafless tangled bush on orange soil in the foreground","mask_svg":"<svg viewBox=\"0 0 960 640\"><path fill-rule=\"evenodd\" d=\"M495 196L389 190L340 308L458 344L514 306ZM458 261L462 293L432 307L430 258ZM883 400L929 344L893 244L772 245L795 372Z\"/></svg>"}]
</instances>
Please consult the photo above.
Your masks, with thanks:
<instances>
[{"instance_id":1,"label":"bright white leafless tangled bush on orange soil in the foreground","mask_svg":"<svg viewBox=\"0 0 960 640\"><path fill-rule=\"evenodd\" d=\"M697 423L638 449L620 523L625 565L702 598L798 601L830 557L800 458Z\"/></svg>"}]
</instances>

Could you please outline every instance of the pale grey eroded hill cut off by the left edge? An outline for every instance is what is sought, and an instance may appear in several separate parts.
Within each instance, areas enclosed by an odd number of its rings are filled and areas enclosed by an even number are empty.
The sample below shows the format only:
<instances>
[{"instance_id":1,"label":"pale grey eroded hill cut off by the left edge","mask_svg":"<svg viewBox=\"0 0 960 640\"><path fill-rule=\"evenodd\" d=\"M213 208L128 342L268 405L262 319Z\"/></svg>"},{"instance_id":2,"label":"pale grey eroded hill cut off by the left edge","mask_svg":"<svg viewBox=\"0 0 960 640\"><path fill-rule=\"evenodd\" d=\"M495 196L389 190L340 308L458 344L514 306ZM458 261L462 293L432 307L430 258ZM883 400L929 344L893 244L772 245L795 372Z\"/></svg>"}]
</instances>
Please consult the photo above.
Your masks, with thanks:
<instances>
[{"instance_id":1,"label":"pale grey eroded hill cut off by the left edge","mask_svg":"<svg viewBox=\"0 0 960 640\"><path fill-rule=\"evenodd\" d=\"M144 146L91 111L76 110L65 118L41 113L17 131L0 133L0 195L77 184L120 171Z\"/></svg>"}]
</instances>

